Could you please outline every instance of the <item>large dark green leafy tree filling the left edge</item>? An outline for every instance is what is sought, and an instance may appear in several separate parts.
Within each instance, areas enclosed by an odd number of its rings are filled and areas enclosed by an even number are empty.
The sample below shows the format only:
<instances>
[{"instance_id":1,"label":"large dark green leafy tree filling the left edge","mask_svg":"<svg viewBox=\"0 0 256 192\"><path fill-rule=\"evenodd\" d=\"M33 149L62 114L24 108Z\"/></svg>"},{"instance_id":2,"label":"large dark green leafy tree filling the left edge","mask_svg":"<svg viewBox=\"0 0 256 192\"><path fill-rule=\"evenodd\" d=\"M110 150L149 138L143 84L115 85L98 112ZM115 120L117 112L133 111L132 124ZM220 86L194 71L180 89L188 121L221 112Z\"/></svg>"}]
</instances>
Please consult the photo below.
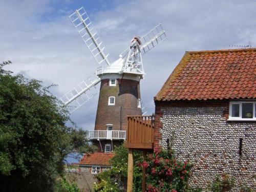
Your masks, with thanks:
<instances>
[{"instance_id":1,"label":"large dark green leafy tree filling the left edge","mask_svg":"<svg viewBox=\"0 0 256 192\"><path fill-rule=\"evenodd\" d=\"M1 191L53 191L63 158L86 144L77 136L85 133L65 125L69 116L50 87L5 71L9 63L0 63Z\"/></svg>"}]
</instances>

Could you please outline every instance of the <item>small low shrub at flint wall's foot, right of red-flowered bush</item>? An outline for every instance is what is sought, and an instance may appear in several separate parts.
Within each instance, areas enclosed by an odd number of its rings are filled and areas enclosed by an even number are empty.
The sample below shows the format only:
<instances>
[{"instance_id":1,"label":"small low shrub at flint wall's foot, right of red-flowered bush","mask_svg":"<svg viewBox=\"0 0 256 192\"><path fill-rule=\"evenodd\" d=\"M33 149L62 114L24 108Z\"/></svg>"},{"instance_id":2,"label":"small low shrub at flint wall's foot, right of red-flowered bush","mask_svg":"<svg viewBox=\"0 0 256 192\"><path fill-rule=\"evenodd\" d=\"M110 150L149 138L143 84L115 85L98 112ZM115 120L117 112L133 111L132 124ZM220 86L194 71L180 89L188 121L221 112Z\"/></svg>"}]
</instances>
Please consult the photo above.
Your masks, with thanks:
<instances>
[{"instance_id":1,"label":"small low shrub at flint wall's foot, right of red-flowered bush","mask_svg":"<svg viewBox=\"0 0 256 192\"><path fill-rule=\"evenodd\" d=\"M230 191L234 186L234 182L236 180L227 174L223 174L222 178L217 176L215 181L208 187L208 189L212 192L225 192Z\"/></svg>"}]
</instances>

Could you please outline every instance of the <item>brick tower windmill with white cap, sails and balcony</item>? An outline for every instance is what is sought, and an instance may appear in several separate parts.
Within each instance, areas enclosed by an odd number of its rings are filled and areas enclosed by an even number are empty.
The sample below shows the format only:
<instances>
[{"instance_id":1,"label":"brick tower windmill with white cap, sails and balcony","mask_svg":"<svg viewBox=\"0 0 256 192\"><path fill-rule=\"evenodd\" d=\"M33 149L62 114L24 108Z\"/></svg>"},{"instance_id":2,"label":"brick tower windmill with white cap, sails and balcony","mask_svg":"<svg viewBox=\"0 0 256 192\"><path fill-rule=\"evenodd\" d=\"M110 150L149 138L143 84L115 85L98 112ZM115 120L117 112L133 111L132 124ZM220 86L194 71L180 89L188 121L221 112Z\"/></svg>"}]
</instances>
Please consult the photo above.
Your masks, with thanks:
<instances>
[{"instance_id":1,"label":"brick tower windmill with white cap, sails and balcony","mask_svg":"<svg viewBox=\"0 0 256 192\"><path fill-rule=\"evenodd\" d=\"M94 75L60 100L71 106L73 112L98 93L96 85L101 82L95 131L89 132L89 138L98 145L99 151L109 153L113 143L119 145L125 140L126 116L142 114L139 88L140 79L145 75L142 55L163 41L166 34L159 24L144 36L135 36L131 46L116 61L110 62L109 53L84 8L76 10L69 18L99 67Z\"/></svg>"}]
</instances>

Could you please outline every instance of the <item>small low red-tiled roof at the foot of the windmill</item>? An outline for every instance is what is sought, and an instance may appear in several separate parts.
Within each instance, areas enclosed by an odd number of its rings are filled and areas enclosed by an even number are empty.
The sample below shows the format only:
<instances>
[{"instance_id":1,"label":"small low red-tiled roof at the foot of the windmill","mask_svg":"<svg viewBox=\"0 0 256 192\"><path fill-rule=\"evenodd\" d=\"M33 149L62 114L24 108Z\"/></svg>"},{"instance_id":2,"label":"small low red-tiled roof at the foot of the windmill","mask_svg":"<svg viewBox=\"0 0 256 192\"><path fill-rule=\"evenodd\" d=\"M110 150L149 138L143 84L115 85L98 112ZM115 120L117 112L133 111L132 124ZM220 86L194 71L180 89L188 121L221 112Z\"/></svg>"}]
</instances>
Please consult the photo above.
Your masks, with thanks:
<instances>
[{"instance_id":1,"label":"small low red-tiled roof at the foot of the windmill","mask_svg":"<svg viewBox=\"0 0 256 192\"><path fill-rule=\"evenodd\" d=\"M114 153L93 153L83 156L79 164L86 165L110 165L109 160L114 157Z\"/></svg>"}]
</instances>

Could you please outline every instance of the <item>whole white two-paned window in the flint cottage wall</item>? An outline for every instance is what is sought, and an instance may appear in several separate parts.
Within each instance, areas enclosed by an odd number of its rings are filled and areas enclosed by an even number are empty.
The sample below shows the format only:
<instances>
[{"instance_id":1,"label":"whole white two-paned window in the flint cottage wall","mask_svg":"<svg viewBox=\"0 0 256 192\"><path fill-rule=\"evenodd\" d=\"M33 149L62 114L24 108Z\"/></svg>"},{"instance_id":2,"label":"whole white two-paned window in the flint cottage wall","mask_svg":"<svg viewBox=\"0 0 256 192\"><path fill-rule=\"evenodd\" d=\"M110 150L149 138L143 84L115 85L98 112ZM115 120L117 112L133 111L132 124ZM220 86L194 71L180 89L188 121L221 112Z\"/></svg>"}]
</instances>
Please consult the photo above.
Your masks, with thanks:
<instances>
[{"instance_id":1,"label":"whole white two-paned window in the flint cottage wall","mask_svg":"<svg viewBox=\"0 0 256 192\"><path fill-rule=\"evenodd\" d=\"M240 101L229 103L229 120L256 120L256 101Z\"/></svg>"}]
</instances>

